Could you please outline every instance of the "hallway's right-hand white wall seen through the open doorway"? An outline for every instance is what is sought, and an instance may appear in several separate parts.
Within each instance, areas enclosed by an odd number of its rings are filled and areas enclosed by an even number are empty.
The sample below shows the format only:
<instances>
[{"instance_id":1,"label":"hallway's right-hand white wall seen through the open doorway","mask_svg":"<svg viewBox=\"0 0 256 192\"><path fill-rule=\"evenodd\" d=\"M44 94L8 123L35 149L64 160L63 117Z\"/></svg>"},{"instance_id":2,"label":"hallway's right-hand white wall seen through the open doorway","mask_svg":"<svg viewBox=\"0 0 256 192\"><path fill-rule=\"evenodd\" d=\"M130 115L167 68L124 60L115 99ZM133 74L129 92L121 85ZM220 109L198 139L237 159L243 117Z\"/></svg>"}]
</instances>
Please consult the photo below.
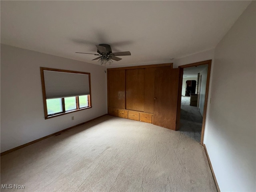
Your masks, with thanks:
<instances>
[{"instance_id":1,"label":"hallway's right-hand white wall seen through the open doorway","mask_svg":"<svg viewBox=\"0 0 256 192\"><path fill-rule=\"evenodd\" d=\"M204 101L205 101L205 92L206 92L207 71L208 71L208 66L200 72L200 75L202 76L202 78L201 78L201 89L200 89L198 110L202 116L204 114Z\"/></svg>"}]
</instances>

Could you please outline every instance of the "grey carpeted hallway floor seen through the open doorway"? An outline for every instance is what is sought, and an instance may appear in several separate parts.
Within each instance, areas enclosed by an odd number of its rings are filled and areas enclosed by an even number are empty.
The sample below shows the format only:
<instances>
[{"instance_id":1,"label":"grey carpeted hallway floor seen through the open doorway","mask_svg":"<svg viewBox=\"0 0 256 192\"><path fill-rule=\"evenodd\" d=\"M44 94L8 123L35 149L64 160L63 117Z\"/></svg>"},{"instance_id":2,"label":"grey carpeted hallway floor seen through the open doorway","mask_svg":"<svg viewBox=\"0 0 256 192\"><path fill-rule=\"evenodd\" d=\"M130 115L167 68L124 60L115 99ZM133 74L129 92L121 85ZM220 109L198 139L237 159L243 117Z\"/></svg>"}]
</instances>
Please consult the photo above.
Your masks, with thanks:
<instances>
[{"instance_id":1,"label":"grey carpeted hallway floor seen through the open doorway","mask_svg":"<svg viewBox=\"0 0 256 192\"><path fill-rule=\"evenodd\" d=\"M180 129L188 137L200 142L202 116L196 106L190 106L190 97L181 97Z\"/></svg>"}]
</instances>

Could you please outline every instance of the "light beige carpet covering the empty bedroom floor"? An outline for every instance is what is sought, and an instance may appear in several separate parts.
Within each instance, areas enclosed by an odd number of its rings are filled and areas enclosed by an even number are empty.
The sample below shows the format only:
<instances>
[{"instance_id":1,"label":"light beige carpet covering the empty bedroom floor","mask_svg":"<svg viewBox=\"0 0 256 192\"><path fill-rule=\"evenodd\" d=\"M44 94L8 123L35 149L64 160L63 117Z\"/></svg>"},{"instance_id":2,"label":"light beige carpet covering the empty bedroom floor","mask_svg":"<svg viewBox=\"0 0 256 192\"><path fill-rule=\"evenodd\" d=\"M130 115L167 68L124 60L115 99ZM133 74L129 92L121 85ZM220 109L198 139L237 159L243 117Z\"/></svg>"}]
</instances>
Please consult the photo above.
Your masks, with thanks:
<instances>
[{"instance_id":1,"label":"light beige carpet covering the empty bedroom floor","mask_svg":"<svg viewBox=\"0 0 256 192\"><path fill-rule=\"evenodd\" d=\"M203 146L180 132L104 116L1 157L1 191L216 192Z\"/></svg>"}]
</instances>

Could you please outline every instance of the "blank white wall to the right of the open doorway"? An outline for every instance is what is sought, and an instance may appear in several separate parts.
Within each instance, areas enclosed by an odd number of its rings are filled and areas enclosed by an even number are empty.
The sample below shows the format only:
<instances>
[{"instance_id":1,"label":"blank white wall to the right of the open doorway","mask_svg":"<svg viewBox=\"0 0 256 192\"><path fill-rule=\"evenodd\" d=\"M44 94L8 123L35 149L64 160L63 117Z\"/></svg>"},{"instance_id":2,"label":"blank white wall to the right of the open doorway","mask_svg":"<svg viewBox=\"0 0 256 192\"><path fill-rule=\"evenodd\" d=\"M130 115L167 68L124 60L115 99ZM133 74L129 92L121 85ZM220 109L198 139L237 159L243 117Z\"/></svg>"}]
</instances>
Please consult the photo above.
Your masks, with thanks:
<instances>
[{"instance_id":1,"label":"blank white wall to the right of the open doorway","mask_svg":"<svg viewBox=\"0 0 256 192\"><path fill-rule=\"evenodd\" d=\"M256 191L256 2L216 46L204 134L221 191Z\"/></svg>"}]
</instances>

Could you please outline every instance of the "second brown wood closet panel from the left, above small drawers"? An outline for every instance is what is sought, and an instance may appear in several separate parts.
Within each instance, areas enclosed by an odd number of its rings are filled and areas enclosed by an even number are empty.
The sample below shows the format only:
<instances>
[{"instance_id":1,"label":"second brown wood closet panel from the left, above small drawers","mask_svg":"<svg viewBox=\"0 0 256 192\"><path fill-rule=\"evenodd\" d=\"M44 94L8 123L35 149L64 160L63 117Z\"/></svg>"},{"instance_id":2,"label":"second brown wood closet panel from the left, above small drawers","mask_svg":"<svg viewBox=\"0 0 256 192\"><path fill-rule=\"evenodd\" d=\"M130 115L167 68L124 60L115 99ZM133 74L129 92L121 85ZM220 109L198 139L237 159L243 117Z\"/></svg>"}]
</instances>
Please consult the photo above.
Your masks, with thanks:
<instances>
[{"instance_id":1,"label":"second brown wood closet panel from the left, above small drawers","mask_svg":"<svg viewBox=\"0 0 256 192\"><path fill-rule=\"evenodd\" d=\"M145 69L126 70L126 109L144 111Z\"/></svg>"}]
</instances>

